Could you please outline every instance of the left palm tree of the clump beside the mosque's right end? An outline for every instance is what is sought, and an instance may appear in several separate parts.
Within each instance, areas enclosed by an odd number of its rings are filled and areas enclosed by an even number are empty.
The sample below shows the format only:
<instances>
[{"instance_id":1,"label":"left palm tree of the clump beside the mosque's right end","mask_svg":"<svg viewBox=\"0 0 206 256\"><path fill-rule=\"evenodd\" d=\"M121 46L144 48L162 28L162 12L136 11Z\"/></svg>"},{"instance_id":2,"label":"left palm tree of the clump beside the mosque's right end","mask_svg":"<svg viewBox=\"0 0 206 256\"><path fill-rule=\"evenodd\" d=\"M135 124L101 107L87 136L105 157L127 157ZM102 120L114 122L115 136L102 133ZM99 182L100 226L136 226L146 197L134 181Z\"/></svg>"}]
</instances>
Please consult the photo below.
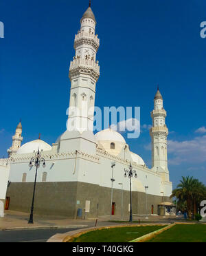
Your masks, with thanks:
<instances>
[{"instance_id":1,"label":"left palm tree of the clump beside the mosque's right end","mask_svg":"<svg viewBox=\"0 0 206 256\"><path fill-rule=\"evenodd\" d=\"M178 198L181 201L187 202L187 212L188 217L190 220L192 220L192 204L194 202L194 191L195 191L195 185L197 184L196 179L193 177L187 176L182 177L183 180L181 180L180 184L176 186L176 189L172 191L172 195L170 198L173 198L174 196Z\"/></svg>"}]
</instances>

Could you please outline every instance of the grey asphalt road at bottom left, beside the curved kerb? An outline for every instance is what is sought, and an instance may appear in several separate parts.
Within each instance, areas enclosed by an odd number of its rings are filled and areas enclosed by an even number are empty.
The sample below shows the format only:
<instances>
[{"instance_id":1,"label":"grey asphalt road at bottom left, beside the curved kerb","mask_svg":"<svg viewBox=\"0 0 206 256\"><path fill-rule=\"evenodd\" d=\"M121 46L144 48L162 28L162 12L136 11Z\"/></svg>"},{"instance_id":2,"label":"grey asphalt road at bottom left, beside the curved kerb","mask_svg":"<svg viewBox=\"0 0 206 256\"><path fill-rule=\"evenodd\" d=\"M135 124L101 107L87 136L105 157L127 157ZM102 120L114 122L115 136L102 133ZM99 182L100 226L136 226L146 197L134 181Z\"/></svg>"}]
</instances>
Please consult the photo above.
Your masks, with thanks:
<instances>
[{"instance_id":1,"label":"grey asphalt road at bottom left, beside the curved kerb","mask_svg":"<svg viewBox=\"0 0 206 256\"><path fill-rule=\"evenodd\" d=\"M79 228L47 228L35 230L0 231L0 242L47 242L56 233L66 233Z\"/></svg>"}]
</instances>

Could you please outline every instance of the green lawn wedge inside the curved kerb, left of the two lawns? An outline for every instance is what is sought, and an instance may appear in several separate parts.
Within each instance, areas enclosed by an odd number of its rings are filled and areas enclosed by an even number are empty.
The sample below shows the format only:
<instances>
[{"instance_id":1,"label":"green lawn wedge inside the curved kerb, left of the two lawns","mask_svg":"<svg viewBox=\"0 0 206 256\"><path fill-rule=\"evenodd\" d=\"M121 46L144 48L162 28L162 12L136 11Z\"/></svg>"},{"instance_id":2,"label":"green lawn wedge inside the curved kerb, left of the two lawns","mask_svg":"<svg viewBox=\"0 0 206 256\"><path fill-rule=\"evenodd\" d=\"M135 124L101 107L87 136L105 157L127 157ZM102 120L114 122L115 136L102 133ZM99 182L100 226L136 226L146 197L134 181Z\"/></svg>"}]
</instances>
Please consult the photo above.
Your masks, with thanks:
<instances>
[{"instance_id":1,"label":"green lawn wedge inside the curved kerb, left of the two lawns","mask_svg":"<svg viewBox=\"0 0 206 256\"><path fill-rule=\"evenodd\" d=\"M164 226L127 226L124 228L108 228L100 231L91 231L77 237L73 242L129 242L163 227Z\"/></svg>"}]
</instances>

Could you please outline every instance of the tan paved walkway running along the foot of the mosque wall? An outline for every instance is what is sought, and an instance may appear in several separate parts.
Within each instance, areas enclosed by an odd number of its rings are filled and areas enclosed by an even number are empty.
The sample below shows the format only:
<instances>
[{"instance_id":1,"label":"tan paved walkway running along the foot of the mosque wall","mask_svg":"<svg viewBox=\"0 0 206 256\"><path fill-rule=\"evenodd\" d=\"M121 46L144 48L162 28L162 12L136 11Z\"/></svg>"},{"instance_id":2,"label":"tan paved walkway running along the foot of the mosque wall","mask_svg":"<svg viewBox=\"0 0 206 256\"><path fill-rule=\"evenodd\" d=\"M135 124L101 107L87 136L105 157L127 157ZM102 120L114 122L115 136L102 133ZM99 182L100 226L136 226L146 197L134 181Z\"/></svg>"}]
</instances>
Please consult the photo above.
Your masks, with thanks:
<instances>
[{"instance_id":1,"label":"tan paved walkway running along the foot of the mosque wall","mask_svg":"<svg viewBox=\"0 0 206 256\"><path fill-rule=\"evenodd\" d=\"M24 228L85 228L95 226L96 219L87 220L70 220L63 216L40 216L34 215L34 224L28 224L30 213L22 213L18 211L5 211L5 217L0 217L0 230L13 230L13 229L24 229ZM124 219L128 220L129 215ZM111 226L114 224L122 224L121 222L109 222L110 216L98 217L97 226ZM112 220L121 220L120 216L113 216ZM183 217L173 216L134 216L134 221L140 221L140 224L147 222L157 223L171 223L183 221Z\"/></svg>"}]
</instances>

